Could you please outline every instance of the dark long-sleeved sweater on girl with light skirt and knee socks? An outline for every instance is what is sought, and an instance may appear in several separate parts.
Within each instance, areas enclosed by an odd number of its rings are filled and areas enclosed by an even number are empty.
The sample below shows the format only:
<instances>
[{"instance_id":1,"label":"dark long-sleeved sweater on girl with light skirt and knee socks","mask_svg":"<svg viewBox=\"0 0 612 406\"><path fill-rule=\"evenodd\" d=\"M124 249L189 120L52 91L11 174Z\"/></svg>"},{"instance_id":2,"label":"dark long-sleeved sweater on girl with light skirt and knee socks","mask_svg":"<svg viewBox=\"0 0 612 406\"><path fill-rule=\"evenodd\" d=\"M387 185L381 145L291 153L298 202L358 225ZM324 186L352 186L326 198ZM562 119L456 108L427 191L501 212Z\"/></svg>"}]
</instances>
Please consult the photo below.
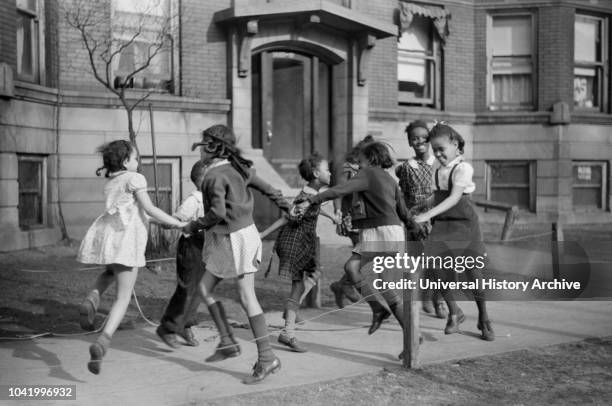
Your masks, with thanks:
<instances>
[{"instance_id":1,"label":"dark long-sleeved sweater on girl with light skirt and knee socks","mask_svg":"<svg viewBox=\"0 0 612 406\"><path fill-rule=\"evenodd\" d=\"M281 210L289 211L291 205L282 193L258 177L255 169L249 169L249 176L244 179L228 162L206 172L200 188L206 214L189 223L188 230L230 234L253 224L254 200L249 187L260 191Z\"/></svg>"}]
</instances>

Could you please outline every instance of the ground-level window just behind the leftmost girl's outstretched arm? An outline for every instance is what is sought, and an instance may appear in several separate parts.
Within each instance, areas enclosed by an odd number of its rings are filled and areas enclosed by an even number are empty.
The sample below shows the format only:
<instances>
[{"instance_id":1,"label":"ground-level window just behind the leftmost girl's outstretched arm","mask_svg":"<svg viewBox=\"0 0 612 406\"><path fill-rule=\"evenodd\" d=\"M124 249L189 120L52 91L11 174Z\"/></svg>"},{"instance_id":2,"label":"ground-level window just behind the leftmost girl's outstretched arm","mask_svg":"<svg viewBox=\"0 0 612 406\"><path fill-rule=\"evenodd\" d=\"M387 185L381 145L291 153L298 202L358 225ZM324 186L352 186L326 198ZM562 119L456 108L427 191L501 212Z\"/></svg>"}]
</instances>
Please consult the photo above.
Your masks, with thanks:
<instances>
[{"instance_id":1,"label":"ground-level window just behind the leftmost girl's outstretched arm","mask_svg":"<svg viewBox=\"0 0 612 406\"><path fill-rule=\"evenodd\" d=\"M155 177L153 176L152 157L142 158L140 173L147 179L147 191L153 204L166 213L172 214L178 207L180 199L180 158L157 158L159 203L155 202Z\"/></svg>"}]
</instances>

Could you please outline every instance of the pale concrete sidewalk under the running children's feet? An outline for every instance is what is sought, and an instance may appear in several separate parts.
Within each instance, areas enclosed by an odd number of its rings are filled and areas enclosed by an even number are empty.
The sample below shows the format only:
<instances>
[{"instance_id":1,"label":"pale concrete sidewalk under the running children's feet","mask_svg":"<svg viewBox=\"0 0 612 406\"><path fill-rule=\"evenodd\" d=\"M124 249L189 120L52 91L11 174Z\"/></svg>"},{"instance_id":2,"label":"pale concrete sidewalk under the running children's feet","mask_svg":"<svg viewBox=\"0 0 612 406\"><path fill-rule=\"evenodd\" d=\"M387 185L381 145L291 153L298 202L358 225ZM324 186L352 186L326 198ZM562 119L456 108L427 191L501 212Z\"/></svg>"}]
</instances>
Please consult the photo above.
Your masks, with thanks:
<instances>
[{"instance_id":1,"label":"pale concrete sidewalk under the running children's feet","mask_svg":"<svg viewBox=\"0 0 612 406\"><path fill-rule=\"evenodd\" d=\"M612 335L612 302L489 303L497 334L494 342L478 339L476 306L471 302L460 306L467 316L462 334L444 335L444 320L421 315L422 364ZM196 328L199 347L171 351L157 338L154 327L117 332L98 376L86 368L88 346L95 335L0 342L0 385L76 385L76 400L62 404L182 405L223 397L229 397L230 403L237 394L325 382L400 365L397 355L402 334L395 321L368 336L367 305L333 310L304 311L305 318L314 318L298 333L308 353L286 351L276 344L273 332L282 370L255 386L240 382L257 358L256 347L249 342L250 330L235 329L243 350L240 357L207 364L204 358L217 343L214 330ZM279 313L267 314L267 320L271 331L282 321Z\"/></svg>"}]
</instances>

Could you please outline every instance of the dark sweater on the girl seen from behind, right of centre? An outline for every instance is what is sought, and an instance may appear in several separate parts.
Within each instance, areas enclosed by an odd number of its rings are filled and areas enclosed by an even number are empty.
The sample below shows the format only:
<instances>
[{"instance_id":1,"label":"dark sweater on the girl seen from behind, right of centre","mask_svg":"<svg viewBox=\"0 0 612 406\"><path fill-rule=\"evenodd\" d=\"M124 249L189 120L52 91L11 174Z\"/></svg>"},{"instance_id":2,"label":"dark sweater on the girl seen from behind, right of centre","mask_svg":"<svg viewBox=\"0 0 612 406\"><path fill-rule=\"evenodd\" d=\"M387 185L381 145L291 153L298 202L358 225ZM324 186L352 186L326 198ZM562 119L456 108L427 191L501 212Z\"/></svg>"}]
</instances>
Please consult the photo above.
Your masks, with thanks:
<instances>
[{"instance_id":1,"label":"dark sweater on the girl seen from behind, right of centre","mask_svg":"<svg viewBox=\"0 0 612 406\"><path fill-rule=\"evenodd\" d=\"M362 168L342 185L306 198L316 204L337 199L350 193L358 193L365 206L365 216L353 217L354 228L411 224L406 205L395 180L379 167Z\"/></svg>"}]
</instances>

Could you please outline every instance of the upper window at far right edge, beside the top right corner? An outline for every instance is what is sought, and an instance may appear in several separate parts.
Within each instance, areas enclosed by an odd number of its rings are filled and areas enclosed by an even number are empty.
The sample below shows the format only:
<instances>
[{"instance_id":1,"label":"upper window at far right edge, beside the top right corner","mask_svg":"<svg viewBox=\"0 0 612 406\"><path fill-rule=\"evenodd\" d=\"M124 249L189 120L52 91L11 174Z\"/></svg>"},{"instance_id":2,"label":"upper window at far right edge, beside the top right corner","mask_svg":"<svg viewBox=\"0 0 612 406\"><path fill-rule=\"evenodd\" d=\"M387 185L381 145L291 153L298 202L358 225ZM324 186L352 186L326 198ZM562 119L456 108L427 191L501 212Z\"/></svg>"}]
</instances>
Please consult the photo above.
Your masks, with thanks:
<instances>
[{"instance_id":1,"label":"upper window at far right edge, beside the top right corner","mask_svg":"<svg viewBox=\"0 0 612 406\"><path fill-rule=\"evenodd\" d=\"M607 21L576 14L574 22L574 107L607 110Z\"/></svg>"}]
</instances>

